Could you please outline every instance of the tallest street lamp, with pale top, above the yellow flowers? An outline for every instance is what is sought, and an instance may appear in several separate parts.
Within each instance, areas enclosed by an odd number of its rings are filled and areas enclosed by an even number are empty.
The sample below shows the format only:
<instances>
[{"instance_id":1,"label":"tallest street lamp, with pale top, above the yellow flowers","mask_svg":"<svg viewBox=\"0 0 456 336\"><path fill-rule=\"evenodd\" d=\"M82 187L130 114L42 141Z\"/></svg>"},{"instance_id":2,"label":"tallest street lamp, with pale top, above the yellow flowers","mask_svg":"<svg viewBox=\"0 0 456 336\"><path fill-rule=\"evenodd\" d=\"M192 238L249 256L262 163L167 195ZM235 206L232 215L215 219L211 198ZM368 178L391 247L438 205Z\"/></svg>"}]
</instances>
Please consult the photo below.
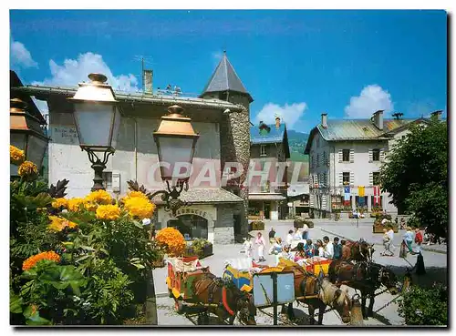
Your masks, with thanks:
<instances>
[{"instance_id":1,"label":"tallest street lamp, with pale top, above the yellow flowers","mask_svg":"<svg viewBox=\"0 0 456 336\"><path fill-rule=\"evenodd\" d=\"M77 93L69 100L75 107L73 116L79 146L87 151L95 173L94 191L104 189L103 170L109 156L116 150L120 113L114 91L106 84L108 78L101 74L90 74L88 78L91 83L79 83Z\"/></svg>"}]
</instances>

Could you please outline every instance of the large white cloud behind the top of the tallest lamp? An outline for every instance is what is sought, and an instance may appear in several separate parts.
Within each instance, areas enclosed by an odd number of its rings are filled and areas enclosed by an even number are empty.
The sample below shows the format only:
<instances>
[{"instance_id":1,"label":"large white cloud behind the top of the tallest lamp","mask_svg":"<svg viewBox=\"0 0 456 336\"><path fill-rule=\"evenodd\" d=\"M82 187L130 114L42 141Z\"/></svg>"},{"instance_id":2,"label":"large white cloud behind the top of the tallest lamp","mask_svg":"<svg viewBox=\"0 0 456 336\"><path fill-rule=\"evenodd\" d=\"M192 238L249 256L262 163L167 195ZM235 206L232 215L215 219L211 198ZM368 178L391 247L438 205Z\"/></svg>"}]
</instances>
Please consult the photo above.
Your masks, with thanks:
<instances>
[{"instance_id":1,"label":"large white cloud behind the top of the tallest lamp","mask_svg":"<svg viewBox=\"0 0 456 336\"><path fill-rule=\"evenodd\" d=\"M51 59L49 67L52 77L32 84L75 87L80 82L88 82L88 74L96 72L107 76L109 85L115 90L139 91L136 76L132 74L114 76L103 57L98 54L90 52L79 54L78 59L65 59L61 66Z\"/></svg>"}]
</instances>

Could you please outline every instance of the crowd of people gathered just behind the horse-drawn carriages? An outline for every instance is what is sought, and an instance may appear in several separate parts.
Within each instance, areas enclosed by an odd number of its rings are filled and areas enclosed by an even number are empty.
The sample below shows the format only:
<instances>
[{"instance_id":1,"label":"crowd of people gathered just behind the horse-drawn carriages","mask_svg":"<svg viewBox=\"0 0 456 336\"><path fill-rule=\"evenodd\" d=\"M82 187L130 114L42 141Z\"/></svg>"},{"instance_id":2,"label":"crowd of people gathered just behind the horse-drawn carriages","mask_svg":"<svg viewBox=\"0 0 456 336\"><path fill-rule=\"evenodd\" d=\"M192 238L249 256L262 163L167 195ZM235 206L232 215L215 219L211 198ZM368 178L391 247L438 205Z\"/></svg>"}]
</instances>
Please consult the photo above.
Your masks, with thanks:
<instances>
[{"instance_id":1,"label":"crowd of people gathered just behind the horse-drawn carriages","mask_svg":"<svg viewBox=\"0 0 456 336\"><path fill-rule=\"evenodd\" d=\"M243 252L246 257L255 260L254 249L256 249L258 261L265 261L264 250L266 249L266 241L263 233L258 232L256 238L253 240L254 241L252 241L252 239L245 239ZM348 247L344 249L346 240L339 240L340 239L335 237L333 241L330 241L330 239L325 236L322 239L313 241L309 238L309 228L305 224L302 229L290 229L286 235L285 241L283 241L282 238L275 237L275 229L271 228L269 231L268 253L275 256L276 263L278 263L279 258L293 260L295 262L312 257L339 260L343 259L344 253L346 255L345 259L347 259L350 251Z\"/></svg>"}]
</instances>

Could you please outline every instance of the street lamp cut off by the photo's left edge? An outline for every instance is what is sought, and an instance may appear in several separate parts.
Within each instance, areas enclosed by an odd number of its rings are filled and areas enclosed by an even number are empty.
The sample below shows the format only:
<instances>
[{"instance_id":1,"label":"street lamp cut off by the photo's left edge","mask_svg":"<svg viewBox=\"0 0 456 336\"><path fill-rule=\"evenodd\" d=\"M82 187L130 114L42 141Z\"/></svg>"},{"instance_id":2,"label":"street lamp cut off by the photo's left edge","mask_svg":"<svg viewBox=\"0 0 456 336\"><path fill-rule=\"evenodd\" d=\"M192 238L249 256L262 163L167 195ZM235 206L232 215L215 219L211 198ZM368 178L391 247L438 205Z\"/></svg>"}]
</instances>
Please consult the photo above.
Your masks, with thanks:
<instances>
[{"instance_id":1,"label":"street lamp cut off by the photo's left edge","mask_svg":"<svg viewBox=\"0 0 456 336\"><path fill-rule=\"evenodd\" d=\"M10 100L9 120L11 145L24 150L26 160L35 163L40 171L49 137L39 120L27 111L26 103L18 98ZM10 175L17 176L17 169L16 165L10 165Z\"/></svg>"}]
</instances>

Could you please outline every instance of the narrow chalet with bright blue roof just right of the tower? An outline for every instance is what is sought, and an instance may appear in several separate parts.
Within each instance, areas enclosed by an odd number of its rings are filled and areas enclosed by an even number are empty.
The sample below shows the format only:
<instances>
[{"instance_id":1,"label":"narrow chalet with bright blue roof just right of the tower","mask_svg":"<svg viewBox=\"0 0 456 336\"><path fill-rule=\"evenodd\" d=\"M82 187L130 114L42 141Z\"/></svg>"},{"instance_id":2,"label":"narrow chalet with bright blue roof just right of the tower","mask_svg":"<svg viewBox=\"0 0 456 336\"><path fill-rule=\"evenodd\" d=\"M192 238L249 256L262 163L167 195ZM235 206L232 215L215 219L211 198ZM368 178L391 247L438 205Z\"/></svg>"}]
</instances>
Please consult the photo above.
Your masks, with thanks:
<instances>
[{"instance_id":1,"label":"narrow chalet with bright blue roof just right of the tower","mask_svg":"<svg viewBox=\"0 0 456 336\"><path fill-rule=\"evenodd\" d=\"M287 168L282 166L282 169L285 169L282 177L279 171L279 163L285 163L290 158L285 123L281 123L280 117L276 117L274 125L266 125L261 121L258 126L250 127L250 144L251 167L254 167L255 171L268 171L268 176L263 182L260 177L251 179L249 218L285 219L288 210ZM267 170L267 167L270 169ZM253 170L249 173L252 174Z\"/></svg>"}]
</instances>

